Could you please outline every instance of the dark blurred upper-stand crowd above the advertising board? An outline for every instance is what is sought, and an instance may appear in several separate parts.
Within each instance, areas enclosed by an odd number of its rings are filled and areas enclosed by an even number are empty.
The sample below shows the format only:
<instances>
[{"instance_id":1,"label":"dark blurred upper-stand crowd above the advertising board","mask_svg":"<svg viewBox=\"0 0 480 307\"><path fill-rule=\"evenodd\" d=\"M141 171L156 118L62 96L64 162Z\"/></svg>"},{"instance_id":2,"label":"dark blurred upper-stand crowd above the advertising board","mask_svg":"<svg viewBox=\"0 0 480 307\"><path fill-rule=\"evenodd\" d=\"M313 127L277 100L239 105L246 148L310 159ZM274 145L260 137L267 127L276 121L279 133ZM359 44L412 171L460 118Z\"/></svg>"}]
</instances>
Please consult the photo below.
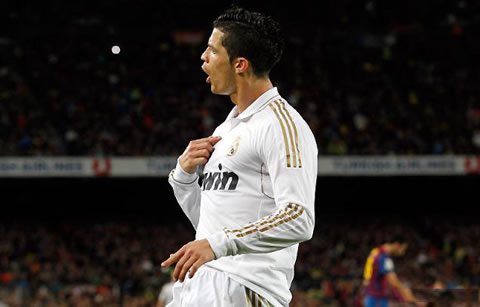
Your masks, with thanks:
<instances>
[{"instance_id":1,"label":"dark blurred upper-stand crowd above the advertising board","mask_svg":"<svg viewBox=\"0 0 480 307\"><path fill-rule=\"evenodd\" d=\"M270 6L272 80L320 154L480 152L480 4L407 2ZM200 69L213 8L105 3L2 11L0 155L177 155L225 118Z\"/></svg>"}]
</instances>

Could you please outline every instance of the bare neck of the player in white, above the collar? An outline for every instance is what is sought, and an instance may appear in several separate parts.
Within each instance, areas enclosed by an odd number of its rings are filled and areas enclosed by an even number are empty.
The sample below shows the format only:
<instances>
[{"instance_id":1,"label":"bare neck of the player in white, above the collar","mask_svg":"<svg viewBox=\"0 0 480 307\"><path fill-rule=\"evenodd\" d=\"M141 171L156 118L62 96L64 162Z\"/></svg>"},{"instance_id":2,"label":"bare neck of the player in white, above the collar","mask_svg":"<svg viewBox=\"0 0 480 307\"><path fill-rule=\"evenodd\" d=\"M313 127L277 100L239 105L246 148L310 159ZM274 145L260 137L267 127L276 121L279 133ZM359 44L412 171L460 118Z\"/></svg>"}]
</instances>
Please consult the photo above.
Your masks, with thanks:
<instances>
[{"instance_id":1,"label":"bare neck of the player in white, above the collar","mask_svg":"<svg viewBox=\"0 0 480 307\"><path fill-rule=\"evenodd\" d=\"M273 87L269 78L243 80L237 83L236 91L230 99L237 106L238 113L245 111L258 97Z\"/></svg>"}]
</instances>

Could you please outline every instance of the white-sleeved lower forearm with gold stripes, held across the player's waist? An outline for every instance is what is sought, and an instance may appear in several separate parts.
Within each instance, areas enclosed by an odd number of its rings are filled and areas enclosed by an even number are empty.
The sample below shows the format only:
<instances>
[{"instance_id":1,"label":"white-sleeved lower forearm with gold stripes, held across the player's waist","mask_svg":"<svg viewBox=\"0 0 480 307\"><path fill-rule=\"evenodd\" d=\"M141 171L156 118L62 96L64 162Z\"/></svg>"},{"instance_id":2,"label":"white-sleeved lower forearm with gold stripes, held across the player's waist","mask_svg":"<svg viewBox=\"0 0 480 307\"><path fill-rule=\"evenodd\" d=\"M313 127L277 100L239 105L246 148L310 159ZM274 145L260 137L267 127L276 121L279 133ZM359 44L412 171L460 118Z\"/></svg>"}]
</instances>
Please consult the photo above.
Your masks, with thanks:
<instances>
[{"instance_id":1,"label":"white-sleeved lower forearm with gold stripes, held across the player's waist","mask_svg":"<svg viewBox=\"0 0 480 307\"><path fill-rule=\"evenodd\" d=\"M309 240L314 219L305 207L289 204L274 214L209 237L216 258L238 254L270 253Z\"/></svg>"}]
</instances>

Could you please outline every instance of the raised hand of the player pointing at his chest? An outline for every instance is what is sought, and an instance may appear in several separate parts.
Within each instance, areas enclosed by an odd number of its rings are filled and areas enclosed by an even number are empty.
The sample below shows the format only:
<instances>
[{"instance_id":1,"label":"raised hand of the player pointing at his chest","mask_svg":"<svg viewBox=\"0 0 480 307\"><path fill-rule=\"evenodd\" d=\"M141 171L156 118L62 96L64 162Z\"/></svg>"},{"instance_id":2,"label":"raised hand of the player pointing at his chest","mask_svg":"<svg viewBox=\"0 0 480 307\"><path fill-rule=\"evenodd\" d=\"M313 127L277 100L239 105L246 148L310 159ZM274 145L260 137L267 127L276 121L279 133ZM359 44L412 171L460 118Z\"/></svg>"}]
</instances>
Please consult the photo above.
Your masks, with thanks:
<instances>
[{"instance_id":1,"label":"raised hand of the player pointing at his chest","mask_svg":"<svg viewBox=\"0 0 480 307\"><path fill-rule=\"evenodd\" d=\"M213 152L213 146L220 141L220 136L193 140L180 156L180 166L187 173L193 174L199 165L205 165Z\"/></svg>"}]
</instances>

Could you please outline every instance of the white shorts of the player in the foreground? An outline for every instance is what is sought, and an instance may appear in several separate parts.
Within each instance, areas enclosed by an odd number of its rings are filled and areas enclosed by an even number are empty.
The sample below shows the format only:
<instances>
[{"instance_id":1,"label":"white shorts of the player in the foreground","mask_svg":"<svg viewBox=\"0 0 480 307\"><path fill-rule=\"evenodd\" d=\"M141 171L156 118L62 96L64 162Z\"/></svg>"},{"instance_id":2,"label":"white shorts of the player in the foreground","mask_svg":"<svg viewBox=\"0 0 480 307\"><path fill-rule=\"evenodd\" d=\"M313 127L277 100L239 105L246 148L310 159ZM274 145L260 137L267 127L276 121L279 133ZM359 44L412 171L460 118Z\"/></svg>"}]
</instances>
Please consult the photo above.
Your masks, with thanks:
<instances>
[{"instance_id":1,"label":"white shorts of the player in the foreground","mask_svg":"<svg viewBox=\"0 0 480 307\"><path fill-rule=\"evenodd\" d=\"M193 278L173 286L173 301L167 307L273 307L265 298L208 267L200 268Z\"/></svg>"}]
</instances>

